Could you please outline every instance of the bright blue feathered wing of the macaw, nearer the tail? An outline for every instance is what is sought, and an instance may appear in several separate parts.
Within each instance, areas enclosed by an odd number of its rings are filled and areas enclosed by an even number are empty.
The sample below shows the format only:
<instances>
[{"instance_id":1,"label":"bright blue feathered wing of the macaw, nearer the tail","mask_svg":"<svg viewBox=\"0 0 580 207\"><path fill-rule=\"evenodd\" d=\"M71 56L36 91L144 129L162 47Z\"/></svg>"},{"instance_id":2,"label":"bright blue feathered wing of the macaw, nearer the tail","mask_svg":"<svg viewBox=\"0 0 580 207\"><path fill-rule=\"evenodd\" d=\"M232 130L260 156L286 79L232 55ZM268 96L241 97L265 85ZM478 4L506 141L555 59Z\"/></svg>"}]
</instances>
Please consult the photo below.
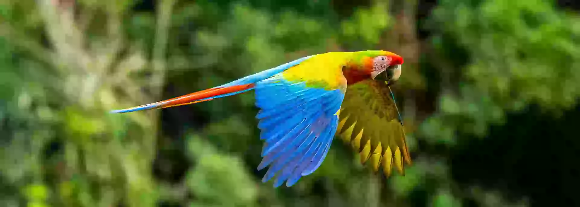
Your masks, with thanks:
<instances>
[{"instance_id":1,"label":"bright blue feathered wing of the macaw, nearer the tail","mask_svg":"<svg viewBox=\"0 0 580 207\"><path fill-rule=\"evenodd\" d=\"M342 90L309 88L274 75L256 83L256 118L264 140L258 170L270 166L262 181L276 177L274 187L288 187L310 175L328 153L338 126Z\"/></svg>"}]
</instances>

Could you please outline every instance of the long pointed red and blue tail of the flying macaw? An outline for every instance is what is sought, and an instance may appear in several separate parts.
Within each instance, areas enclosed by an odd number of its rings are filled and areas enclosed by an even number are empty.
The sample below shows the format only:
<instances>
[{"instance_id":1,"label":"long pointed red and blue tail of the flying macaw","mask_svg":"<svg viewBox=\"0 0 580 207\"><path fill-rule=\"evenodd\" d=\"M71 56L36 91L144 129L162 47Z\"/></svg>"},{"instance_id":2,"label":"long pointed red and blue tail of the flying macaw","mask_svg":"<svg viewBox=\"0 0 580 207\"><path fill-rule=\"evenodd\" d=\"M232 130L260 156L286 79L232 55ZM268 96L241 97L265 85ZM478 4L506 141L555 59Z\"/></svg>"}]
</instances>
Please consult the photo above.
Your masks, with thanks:
<instances>
[{"instance_id":1,"label":"long pointed red and blue tail of the flying macaw","mask_svg":"<svg viewBox=\"0 0 580 207\"><path fill-rule=\"evenodd\" d=\"M111 113L126 113L132 111L142 111L142 110L151 110L155 108L167 108L167 107L174 107L174 106L182 106L186 104L194 104L200 103L202 101L209 101L212 99L217 99L220 97L226 97L231 95L236 95L239 93L244 93L249 90L252 90L255 86L255 83L258 81L262 81L263 79L272 77L273 75L282 72L289 67L296 66L303 60L309 59L311 56L302 57L298 60L291 61L289 63L283 64L278 67L270 68L269 70L265 70L262 72L258 72L253 75L249 75L244 78L237 79L233 82L215 87L210 89L201 90L198 92L190 93L188 95L175 97L173 99L168 99L164 101L158 101L155 103L145 104L143 106L136 106L132 108L125 108L121 110L113 110Z\"/></svg>"}]
</instances>

